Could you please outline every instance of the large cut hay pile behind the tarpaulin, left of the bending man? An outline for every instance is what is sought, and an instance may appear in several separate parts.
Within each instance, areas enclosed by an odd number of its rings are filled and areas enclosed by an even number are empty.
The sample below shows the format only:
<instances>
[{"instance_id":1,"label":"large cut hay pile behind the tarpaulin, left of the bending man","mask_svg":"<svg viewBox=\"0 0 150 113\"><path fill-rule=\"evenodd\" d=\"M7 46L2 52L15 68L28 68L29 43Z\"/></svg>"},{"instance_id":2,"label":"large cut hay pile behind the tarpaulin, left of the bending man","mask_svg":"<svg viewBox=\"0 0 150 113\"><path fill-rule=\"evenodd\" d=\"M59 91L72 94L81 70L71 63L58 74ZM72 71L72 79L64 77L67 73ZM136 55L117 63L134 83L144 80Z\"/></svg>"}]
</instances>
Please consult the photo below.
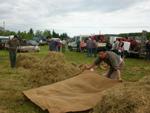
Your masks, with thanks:
<instances>
[{"instance_id":1,"label":"large cut hay pile behind the tarpaulin, left of the bending man","mask_svg":"<svg viewBox=\"0 0 150 113\"><path fill-rule=\"evenodd\" d=\"M31 87L55 83L80 73L77 66L67 62L62 53L56 52L51 52L42 59L20 55L17 67L30 70L27 81Z\"/></svg>"}]
</instances>

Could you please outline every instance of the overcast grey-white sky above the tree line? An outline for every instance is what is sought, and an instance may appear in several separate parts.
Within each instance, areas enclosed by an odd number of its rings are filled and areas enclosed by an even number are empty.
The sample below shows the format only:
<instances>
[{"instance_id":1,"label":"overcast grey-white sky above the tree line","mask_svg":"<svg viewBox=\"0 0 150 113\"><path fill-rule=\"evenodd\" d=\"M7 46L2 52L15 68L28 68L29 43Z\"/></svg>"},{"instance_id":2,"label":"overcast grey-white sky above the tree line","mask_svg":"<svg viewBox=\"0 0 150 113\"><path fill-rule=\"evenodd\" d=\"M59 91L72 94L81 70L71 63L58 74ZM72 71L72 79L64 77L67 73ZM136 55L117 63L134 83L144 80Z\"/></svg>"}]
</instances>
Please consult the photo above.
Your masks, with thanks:
<instances>
[{"instance_id":1,"label":"overcast grey-white sky above the tree line","mask_svg":"<svg viewBox=\"0 0 150 113\"><path fill-rule=\"evenodd\" d=\"M0 26L70 36L150 31L150 0L0 0Z\"/></svg>"}]
</instances>

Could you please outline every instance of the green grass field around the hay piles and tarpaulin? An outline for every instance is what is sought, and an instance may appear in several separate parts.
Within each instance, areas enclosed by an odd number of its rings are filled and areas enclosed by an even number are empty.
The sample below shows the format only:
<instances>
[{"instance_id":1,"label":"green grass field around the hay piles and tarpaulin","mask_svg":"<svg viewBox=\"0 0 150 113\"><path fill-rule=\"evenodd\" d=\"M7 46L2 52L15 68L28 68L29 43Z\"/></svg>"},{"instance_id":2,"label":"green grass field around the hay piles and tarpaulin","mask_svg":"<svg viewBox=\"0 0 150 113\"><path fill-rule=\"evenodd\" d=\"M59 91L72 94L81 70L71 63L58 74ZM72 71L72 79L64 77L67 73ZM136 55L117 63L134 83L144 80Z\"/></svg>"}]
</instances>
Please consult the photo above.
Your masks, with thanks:
<instances>
[{"instance_id":1,"label":"green grass field around the hay piles and tarpaulin","mask_svg":"<svg viewBox=\"0 0 150 113\"><path fill-rule=\"evenodd\" d=\"M43 57L48 54L47 46L41 47L39 53L18 53L32 54ZM66 51L64 53L69 62L75 64L91 64L95 58L86 57L85 53ZM98 69L102 74L105 70ZM122 72L124 81L134 82L150 72L150 61L144 59L125 59L125 67ZM28 89L22 84L23 75L26 72L22 69L11 69L7 51L0 51L0 113L46 113L40 108L25 99L21 92Z\"/></svg>"}]
</instances>

